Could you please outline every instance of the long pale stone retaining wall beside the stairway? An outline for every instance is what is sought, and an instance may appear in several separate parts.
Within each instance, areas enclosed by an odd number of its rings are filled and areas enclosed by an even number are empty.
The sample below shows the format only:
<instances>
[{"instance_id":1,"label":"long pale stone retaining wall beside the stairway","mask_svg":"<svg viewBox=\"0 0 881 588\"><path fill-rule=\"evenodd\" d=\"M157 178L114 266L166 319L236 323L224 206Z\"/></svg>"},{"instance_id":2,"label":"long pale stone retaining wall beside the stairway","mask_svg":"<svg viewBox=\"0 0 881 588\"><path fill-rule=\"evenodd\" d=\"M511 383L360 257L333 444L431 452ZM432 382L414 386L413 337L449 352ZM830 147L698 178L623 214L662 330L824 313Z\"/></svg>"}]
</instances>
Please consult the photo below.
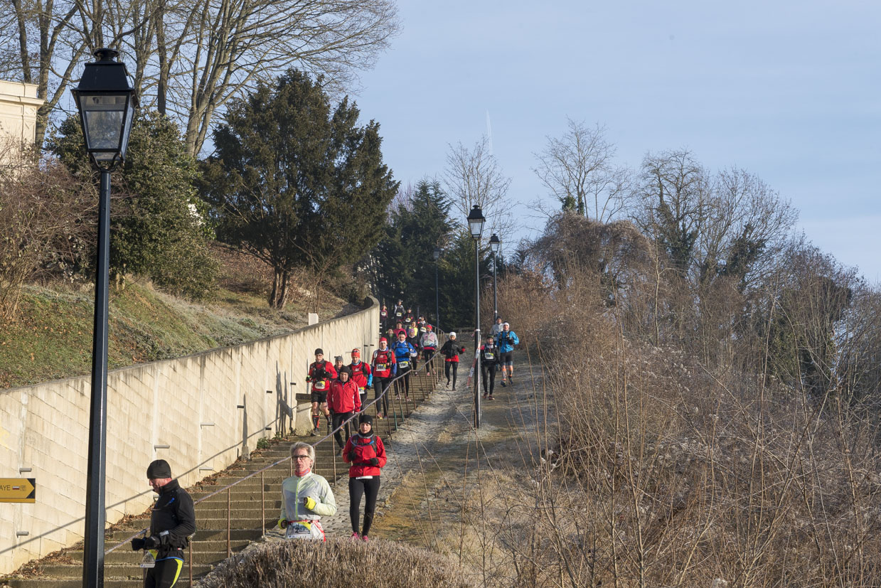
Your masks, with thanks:
<instances>
[{"instance_id":1,"label":"long pale stone retaining wall beside the stairway","mask_svg":"<svg viewBox=\"0 0 881 588\"><path fill-rule=\"evenodd\" d=\"M152 503L153 459L167 459L187 487L291 428L315 347L330 361L348 363L356 346L366 357L378 324L371 298L365 310L291 334L110 372L107 524ZM0 391L0 478L37 484L35 504L0 503L0 574L83 539L90 386L83 376Z\"/></svg>"}]
</instances>

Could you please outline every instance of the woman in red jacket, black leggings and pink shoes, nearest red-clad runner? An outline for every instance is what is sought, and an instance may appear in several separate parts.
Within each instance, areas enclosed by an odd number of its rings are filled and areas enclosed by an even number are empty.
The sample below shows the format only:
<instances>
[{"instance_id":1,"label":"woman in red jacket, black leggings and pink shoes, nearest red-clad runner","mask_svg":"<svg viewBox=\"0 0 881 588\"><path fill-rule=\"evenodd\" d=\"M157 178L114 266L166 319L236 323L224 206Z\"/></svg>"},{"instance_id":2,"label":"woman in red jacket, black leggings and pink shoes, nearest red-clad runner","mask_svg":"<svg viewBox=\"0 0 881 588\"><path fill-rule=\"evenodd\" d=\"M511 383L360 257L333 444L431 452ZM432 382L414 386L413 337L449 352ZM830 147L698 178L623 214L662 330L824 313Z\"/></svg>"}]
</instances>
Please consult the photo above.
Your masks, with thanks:
<instances>
[{"instance_id":1,"label":"woman in red jacket, black leggings and pink shoes, nearest red-clad runner","mask_svg":"<svg viewBox=\"0 0 881 588\"><path fill-rule=\"evenodd\" d=\"M376 496L380 493L380 468L386 464L385 446L379 435L374 435L373 418L366 413L358 417L358 434L345 443L343 459L349 467L349 517L352 519L352 539L369 541L367 534L374 522ZM358 532L361 495L364 504L364 526Z\"/></svg>"}]
</instances>

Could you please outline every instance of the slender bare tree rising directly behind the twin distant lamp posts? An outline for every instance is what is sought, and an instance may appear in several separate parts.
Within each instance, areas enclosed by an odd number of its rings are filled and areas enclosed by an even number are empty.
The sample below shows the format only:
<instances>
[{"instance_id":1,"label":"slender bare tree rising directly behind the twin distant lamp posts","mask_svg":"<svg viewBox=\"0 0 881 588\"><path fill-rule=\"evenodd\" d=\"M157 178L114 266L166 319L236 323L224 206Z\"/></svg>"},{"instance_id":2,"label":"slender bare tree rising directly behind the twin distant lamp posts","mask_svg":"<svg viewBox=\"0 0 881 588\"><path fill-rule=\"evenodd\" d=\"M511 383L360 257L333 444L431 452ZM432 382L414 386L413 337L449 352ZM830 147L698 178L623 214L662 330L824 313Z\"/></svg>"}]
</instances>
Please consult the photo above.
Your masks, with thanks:
<instances>
[{"instance_id":1,"label":"slender bare tree rising directly behind the twin distant lamp posts","mask_svg":"<svg viewBox=\"0 0 881 588\"><path fill-rule=\"evenodd\" d=\"M466 224L465 219L471 207L478 205L484 212L490 231L498 233L504 240L503 233L514 226L507 201L511 178L502 173L499 161L490 153L486 137L471 149L462 143L449 145L443 181L455 219L460 225Z\"/></svg>"}]
</instances>

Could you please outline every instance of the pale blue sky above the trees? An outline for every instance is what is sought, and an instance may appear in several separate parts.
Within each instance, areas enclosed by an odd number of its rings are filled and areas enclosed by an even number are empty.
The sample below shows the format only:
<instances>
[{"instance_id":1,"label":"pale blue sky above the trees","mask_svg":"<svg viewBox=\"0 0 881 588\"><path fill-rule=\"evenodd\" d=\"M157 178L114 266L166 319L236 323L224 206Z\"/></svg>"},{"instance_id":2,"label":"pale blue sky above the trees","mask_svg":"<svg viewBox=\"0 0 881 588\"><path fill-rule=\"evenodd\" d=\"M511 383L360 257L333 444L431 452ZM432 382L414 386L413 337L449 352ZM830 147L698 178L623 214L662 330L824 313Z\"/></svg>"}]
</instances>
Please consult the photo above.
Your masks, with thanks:
<instances>
[{"instance_id":1,"label":"pale blue sky above the trees","mask_svg":"<svg viewBox=\"0 0 881 588\"><path fill-rule=\"evenodd\" d=\"M618 165L687 148L758 175L797 229L881 281L881 2L398 0L402 32L354 98L402 185L492 129L520 227L558 207L532 171L566 117L605 127ZM488 113L488 116L487 116Z\"/></svg>"}]
</instances>

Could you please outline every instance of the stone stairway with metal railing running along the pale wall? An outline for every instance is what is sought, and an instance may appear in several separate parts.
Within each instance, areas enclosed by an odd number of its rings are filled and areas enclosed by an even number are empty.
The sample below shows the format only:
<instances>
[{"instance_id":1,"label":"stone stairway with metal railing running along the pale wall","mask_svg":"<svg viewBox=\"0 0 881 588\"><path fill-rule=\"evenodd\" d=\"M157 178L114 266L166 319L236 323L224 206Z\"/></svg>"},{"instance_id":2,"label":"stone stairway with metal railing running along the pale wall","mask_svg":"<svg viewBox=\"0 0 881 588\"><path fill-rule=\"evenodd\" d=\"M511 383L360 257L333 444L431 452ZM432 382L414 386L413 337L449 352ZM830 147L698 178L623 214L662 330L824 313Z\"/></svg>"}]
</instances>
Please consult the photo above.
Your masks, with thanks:
<instances>
[{"instance_id":1,"label":"stone stairway with metal railing running along the pale wall","mask_svg":"<svg viewBox=\"0 0 881 588\"><path fill-rule=\"evenodd\" d=\"M394 398L389 391L389 418L375 419L374 432L383 440L388 439L396 430L396 423L401 424L409 414L421 404L433 391L436 385L437 370L433 376L426 376L420 369L418 375L411 377L410 402L405 406L403 395ZM368 391L373 398L373 391ZM391 414L394 410L395 416ZM375 406L367 413L376 413ZM322 436L327 432L326 422L322 417ZM352 433L355 430L352 429ZM236 480L241 480L250 473L258 472L272 463L290 455L291 443L305 441L315 443L321 437L287 437L273 441L265 450L257 450L249 461L239 461L231 465L223 473L211 480L210 484L196 485L188 488L194 501L204 500L196 504L196 535L191 541L191 555L181 569L181 577L176 586L189 586L190 577L195 584L200 577L211 571L214 566L226 557L248 546L252 540L258 540L263 532L274 527L278 521L281 508L281 483L291 475L290 459L248 480L224 490L210 498L213 492ZM348 465L343 458L337 456L337 445L329 438L315 447L315 472L328 480L337 480L348 475ZM340 487L344 488L344 487ZM230 508L227 509L227 503ZM227 512L229 520L227 527ZM132 534L149 526L148 518L131 520L115 525L105 536L105 550L114 547ZM227 532L227 528L229 531ZM333 536L329 532L329 536ZM138 588L143 585L142 569L138 566L143 553L131 551L128 545L117 547L107 554L104 563L104 585L107 588ZM28 577L5 577L0 579L0 586L10 588L79 588L82 586L82 544L64 550L62 555L45 558L33 562L33 572Z\"/></svg>"}]
</instances>

